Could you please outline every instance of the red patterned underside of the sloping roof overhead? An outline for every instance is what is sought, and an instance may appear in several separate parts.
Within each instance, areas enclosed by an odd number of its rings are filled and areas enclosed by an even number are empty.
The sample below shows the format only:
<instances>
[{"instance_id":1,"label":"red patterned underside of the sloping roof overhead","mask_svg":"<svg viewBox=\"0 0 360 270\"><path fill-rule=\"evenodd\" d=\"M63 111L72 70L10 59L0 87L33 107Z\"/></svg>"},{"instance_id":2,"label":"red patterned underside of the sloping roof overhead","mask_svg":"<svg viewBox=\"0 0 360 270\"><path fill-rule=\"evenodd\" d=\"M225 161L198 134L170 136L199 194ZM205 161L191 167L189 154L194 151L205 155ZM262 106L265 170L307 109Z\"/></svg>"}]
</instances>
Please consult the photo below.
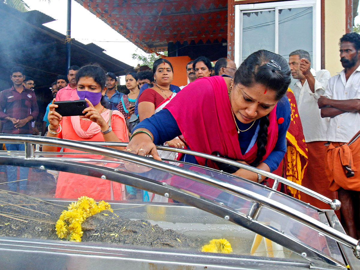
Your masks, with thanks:
<instances>
[{"instance_id":1,"label":"red patterned underside of the sloping roof overhead","mask_svg":"<svg viewBox=\"0 0 360 270\"><path fill-rule=\"evenodd\" d=\"M227 39L227 0L75 0L145 51Z\"/></svg>"}]
</instances>

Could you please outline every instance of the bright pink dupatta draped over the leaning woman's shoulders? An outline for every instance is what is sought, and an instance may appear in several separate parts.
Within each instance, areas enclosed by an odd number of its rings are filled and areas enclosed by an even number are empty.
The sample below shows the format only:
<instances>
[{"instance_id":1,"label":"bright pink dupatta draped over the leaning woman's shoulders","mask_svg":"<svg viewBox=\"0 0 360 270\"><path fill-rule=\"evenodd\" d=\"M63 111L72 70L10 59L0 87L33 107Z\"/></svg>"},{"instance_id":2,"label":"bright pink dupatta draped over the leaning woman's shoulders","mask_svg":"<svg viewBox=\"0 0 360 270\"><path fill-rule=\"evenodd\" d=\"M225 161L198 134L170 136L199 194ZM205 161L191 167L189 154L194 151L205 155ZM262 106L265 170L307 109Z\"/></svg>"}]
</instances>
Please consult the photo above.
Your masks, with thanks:
<instances>
[{"instance_id":1,"label":"bright pink dupatta draped over the leaning woman's shoulders","mask_svg":"<svg viewBox=\"0 0 360 270\"><path fill-rule=\"evenodd\" d=\"M207 154L219 151L223 156L247 163L256 158L256 144L246 154L241 153L224 78L203 77L192 82L177 93L165 108L174 116L190 149ZM269 121L266 154L262 161L269 156L278 139L276 106L269 114ZM205 164L204 158L196 159L200 165ZM210 167L217 166L212 163Z\"/></svg>"}]
</instances>

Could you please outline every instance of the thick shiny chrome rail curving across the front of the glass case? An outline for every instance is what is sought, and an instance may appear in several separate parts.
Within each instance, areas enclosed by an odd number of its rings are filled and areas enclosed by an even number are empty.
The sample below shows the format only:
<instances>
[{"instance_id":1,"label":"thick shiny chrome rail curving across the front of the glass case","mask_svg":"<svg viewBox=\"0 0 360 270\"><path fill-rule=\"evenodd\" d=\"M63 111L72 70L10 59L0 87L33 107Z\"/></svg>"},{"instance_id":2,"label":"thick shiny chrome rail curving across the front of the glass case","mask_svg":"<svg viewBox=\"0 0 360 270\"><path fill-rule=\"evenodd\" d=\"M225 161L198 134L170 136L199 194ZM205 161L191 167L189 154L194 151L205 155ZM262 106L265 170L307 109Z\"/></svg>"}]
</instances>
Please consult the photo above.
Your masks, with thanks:
<instances>
[{"instance_id":1,"label":"thick shiny chrome rail curving across the front of the glass case","mask_svg":"<svg viewBox=\"0 0 360 270\"><path fill-rule=\"evenodd\" d=\"M215 186L216 188L222 188L222 189L225 189L225 190L228 190L230 192L237 194L241 198L244 198L248 201L254 202L253 207L251 207L251 211L249 212L249 215L247 216L248 220L250 220L252 222L256 222L256 224L259 224L256 221L259 211L261 210L261 208L263 206L269 207L276 212L287 215L287 216L291 217L292 219L308 226L309 228L314 229L314 230L318 231L319 233L322 233L322 234L336 240L337 242L339 242L347 247L352 248L354 255L357 258L360 258L360 241L358 241L346 234L343 234L343 233L323 224L322 222L315 220L312 217L309 217L297 210L294 210L293 208L285 206L282 203L276 202L270 198L259 195L250 190L246 190L246 189L240 188L238 186L235 186L235 185L232 185L229 183L224 183L222 181L213 179L207 175L204 175L204 174L201 174L198 172L185 170L184 168L181 168L181 167L176 167L176 166L170 165L168 163L164 163L164 162L156 161L154 159L149 159L146 157L131 154L126 151L120 151L120 150L115 150L115 149L102 147L102 146L96 146L96 145L94 146L94 145L80 142L80 141L71 141L71 140L64 140L64 139L57 139L57 138L50 138L50 137L38 137L38 136L31 136L31 135L13 135L13 134L0 134L0 141L4 141L4 142L8 142L8 143L24 143L25 144L25 160L28 160L28 161L36 160L34 151L33 151L34 144L47 144L47 145L53 145L55 147L67 147L67 148L72 148L75 150L87 151L89 153L100 154L100 155L111 157L111 158L120 158L125 161L133 162L133 163L136 163L139 165L147 166L150 168L156 168L158 170L162 170L165 172L170 172L174 175L178 175L178 176L190 179L190 180L206 183L208 185ZM17 158L4 156L3 159L11 162L11 159L13 159L15 161L15 159L17 159ZM227 161L227 159L225 159L225 161ZM42 162L46 162L46 161L42 160ZM238 164L240 165L241 163L237 163L235 166L238 166ZM63 164L60 163L59 166L61 166L61 165L63 165ZM36 167L36 166L31 165L31 167ZM103 168L103 169L105 169L105 168ZM111 169L108 169L108 170L111 170ZM252 170L252 171L254 171L254 172L260 171L259 173L261 173L261 174L262 174L262 172L264 172L262 170ZM269 173L266 172L266 174L269 174ZM106 179L106 175L104 175L104 177L102 177L102 178ZM133 185L133 184L130 184L130 185ZM158 193L157 190L155 190L155 192ZM162 194L162 193L160 193L160 194ZM234 213L236 213L236 211L234 211ZM236 213L236 214L239 215L238 213ZM224 218L229 219L229 216L224 217ZM238 223L235 219L230 219L230 220L235 223ZM275 232L277 234L279 234L278 231L275 231ZM276 242L276 239L274 239L274 241Z\"/></svg>"}]
</instances>

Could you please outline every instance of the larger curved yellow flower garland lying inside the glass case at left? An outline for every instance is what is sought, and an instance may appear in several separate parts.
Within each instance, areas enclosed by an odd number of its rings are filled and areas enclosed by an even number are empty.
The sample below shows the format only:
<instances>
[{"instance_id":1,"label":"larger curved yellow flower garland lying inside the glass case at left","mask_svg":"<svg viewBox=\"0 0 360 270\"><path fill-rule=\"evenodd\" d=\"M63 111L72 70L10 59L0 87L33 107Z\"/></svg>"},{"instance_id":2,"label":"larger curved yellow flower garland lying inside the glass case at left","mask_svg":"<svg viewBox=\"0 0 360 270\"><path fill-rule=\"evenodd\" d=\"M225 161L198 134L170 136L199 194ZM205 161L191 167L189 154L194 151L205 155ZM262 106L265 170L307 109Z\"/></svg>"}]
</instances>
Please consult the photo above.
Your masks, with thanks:
<instances>
[{"instance_id":1,"label":"larger curved yellow flower garland lying inside the glass case at left","mask_svg":"<svg viewBox=\"0 0 360 270\"><path fill-rule=\"evenodd\" d=\"M93 198L87 196L78 198L77 202L69 204L68 210L62 211L55 225L56 234L60 239L66 238L66 240L81 242L83 233L81 223L103 210L113 212L107 202L100 201L96 204Z\"/></svg>"}]
</instances>

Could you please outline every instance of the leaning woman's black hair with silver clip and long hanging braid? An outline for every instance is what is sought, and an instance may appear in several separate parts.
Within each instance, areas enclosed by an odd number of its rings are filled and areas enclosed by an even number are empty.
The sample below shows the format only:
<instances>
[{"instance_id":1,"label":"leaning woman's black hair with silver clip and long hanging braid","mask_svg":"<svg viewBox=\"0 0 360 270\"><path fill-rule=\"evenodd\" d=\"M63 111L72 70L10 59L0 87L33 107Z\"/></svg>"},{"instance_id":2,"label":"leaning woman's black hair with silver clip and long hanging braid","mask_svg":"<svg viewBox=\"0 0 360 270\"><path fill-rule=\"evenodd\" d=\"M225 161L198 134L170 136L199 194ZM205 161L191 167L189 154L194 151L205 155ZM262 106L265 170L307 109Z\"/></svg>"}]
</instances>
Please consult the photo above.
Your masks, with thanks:
<instances>
[{"instance_id":1,"label":"leaning woman's black hair with silver clip and long hanging braid","mask_svg":"<svg viewBox=\"0 0 360 270\"><path fill-rule=\"evenodd\" d=\"M290 82L291 73L287 61L281 55L267 50L258 50L249 55L234 76L234 85L242 84L246 87L256 83L264 85L276 92L276 100L280 100L286 94ZM259 165L266 153L269 124L269 114L260 118L256 158L250 164L253 167Z\"/></svg>"}]
</instances>

